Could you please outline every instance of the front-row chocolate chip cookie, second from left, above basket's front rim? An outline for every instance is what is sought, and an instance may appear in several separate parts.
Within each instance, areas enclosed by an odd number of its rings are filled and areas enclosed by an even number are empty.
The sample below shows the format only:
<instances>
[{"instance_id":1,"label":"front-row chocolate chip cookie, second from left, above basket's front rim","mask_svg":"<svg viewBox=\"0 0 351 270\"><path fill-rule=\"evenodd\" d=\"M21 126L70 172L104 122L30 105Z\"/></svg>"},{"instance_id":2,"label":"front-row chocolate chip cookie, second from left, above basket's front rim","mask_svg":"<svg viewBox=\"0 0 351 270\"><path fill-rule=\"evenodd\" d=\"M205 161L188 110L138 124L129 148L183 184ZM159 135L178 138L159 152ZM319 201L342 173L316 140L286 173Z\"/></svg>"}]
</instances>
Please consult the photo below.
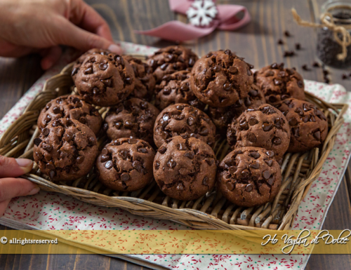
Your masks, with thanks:
<instances>
[{"instance_id":1,"label":"front-row chocolate chip cookie, second from left, above basket's front rim","mask_svg":"<svg viewBox=\"0 0 351 270\"><path fill-rule=\"evenodd\" d=\"M144 140L113 140L96 160L99 180L117 191L143 189L153 178L154 154L154 149Z\"/></svg>"}]
</instances>

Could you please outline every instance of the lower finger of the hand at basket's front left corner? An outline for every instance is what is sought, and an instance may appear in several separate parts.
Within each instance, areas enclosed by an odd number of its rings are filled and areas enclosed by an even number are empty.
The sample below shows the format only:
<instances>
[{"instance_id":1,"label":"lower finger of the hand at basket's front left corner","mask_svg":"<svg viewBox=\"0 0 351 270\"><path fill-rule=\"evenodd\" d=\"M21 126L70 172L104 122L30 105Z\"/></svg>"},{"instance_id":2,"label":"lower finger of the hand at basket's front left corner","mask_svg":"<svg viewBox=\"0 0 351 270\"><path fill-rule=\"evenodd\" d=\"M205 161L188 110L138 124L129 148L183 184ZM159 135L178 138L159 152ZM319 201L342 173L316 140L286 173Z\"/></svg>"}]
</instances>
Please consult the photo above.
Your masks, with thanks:
<instances>
[{"instance_id":1,"label":"lower finger of the hand at basket's front left corner","mask_svg":"<svg viewBox=\"0 0 351 270\"><path fill-rule=\"evenodd\" d=\"M0 179L0 202L13 197L27 196L38 193L37 184L22 178L1 178Z\"/></svg>"}]
</instances>

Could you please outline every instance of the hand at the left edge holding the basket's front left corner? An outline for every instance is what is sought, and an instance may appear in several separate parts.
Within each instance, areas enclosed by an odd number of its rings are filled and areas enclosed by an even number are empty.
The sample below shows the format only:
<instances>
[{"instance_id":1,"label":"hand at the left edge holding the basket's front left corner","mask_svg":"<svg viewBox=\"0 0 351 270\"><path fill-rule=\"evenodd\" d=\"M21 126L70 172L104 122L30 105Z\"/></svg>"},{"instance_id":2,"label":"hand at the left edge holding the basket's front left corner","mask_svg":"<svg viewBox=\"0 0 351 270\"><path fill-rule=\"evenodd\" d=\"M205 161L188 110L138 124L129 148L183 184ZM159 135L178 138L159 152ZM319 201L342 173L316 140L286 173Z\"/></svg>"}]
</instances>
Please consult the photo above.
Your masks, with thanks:
<instances>
[{"instance_id":1,"label":"hand at the left edge holding the basket's front left corner","mask_svg":"<svg viewBox=\"0 0 351 270\"><path fill-rule=\"evenodd\" d=\"M0 217L4 215L11 198L33 195L39 191L37 184L22 178L15 178L32 170L33 161L25 158L0 156Z\"/></svg>"}]
</instances>

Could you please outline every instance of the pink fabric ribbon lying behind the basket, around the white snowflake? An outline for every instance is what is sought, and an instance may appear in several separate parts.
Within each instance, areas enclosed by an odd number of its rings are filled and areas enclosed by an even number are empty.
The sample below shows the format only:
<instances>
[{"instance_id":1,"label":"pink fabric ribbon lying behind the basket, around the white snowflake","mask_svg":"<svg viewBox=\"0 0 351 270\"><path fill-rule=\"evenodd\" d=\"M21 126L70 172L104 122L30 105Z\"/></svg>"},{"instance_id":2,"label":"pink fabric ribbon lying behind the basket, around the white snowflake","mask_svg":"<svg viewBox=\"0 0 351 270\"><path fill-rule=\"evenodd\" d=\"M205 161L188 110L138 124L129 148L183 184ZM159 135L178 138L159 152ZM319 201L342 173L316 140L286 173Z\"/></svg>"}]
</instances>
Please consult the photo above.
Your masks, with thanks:
<instances>
[{"instance_id":1,"label":"pink fabric ribbon lying behind the basket, around the white snowflake","mask_svg":"<svg viewBox=\"0 0 351 270\"><path fill-rule=\"evenodd\" d=\"M189 0L168 0L168 2L172 11L184 15L186 15L187 10L192 6L192 1ZM249 11L244 6L217 5L217 9L218 14L209 27L197 27L194 25L187 25L178 20L173 20L154 29L135 32L137 34L157 36L170 41L189 41L192 39L199 39L201 36L206 36L216 28L220 30L235 30L251 21ZM239 20L237 14L240 12L244 13L244 17Z\"/></svg>"}]
</instances>

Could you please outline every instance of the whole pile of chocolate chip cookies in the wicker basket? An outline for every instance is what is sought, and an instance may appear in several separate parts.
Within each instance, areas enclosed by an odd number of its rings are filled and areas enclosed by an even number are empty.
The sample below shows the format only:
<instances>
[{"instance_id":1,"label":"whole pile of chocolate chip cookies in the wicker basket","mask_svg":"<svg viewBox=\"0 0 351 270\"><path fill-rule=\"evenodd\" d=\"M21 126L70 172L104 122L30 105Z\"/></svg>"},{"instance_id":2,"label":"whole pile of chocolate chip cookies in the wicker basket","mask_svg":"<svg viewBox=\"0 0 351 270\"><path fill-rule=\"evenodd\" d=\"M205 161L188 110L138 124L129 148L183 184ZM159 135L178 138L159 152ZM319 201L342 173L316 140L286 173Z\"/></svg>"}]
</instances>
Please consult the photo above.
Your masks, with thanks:
<instances>
[{"instance_id":1,"label":"whole pile of chocolate chip cookies in the wicker basket","mask_svg":"<svg viewBox=\"0 0 351 270\"><path fill-rule=\"evenodd\" d=\"M89 50L72 68L79 95L58 97L41 111L34 160L53 181L77 180L94 168L116 191L155 180L167 196L189 201L217 183L236 205L263 205L282 185L286 151L320 147L328 122L305 101L295 69L252 69L231 50L198 58L169 46L147 62ZM105 119L95 106L107 107ZM97 136L110 142L98 149ZM225 136L232 151L219 163L213 147Z\"/></svg>"}]
</instances>

